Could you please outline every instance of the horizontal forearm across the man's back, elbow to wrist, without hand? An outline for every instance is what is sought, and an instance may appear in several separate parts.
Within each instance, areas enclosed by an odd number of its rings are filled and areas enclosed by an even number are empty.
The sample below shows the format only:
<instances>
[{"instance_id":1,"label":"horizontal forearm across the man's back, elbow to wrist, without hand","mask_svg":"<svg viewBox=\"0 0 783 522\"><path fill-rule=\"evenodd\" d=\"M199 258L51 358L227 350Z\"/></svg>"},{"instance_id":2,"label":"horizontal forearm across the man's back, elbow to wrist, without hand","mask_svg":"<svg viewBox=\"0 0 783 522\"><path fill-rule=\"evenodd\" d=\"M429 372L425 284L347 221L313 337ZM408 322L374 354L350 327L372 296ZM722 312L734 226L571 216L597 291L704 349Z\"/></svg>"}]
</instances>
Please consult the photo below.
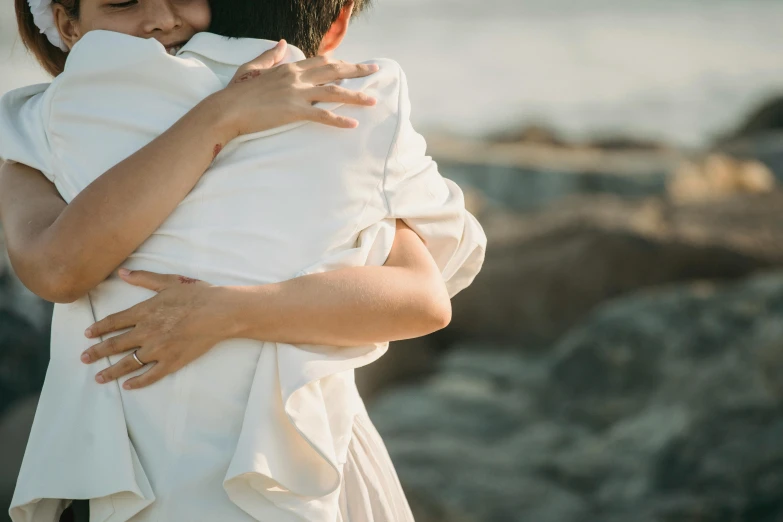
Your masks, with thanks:
<instances>
[{"instance_id":1,"label":"horizontal forearm across the man's back, elbow to wrist, without hand","mask_svg":"<svg viewBox=\"0 0 783 522\"><path fill-rule=\"evenodd\" d=\"M354 346L420 337L451 320L442 283L402 267L346 268L218 292L231 338Z\"/></svg>"}]
</instances>

